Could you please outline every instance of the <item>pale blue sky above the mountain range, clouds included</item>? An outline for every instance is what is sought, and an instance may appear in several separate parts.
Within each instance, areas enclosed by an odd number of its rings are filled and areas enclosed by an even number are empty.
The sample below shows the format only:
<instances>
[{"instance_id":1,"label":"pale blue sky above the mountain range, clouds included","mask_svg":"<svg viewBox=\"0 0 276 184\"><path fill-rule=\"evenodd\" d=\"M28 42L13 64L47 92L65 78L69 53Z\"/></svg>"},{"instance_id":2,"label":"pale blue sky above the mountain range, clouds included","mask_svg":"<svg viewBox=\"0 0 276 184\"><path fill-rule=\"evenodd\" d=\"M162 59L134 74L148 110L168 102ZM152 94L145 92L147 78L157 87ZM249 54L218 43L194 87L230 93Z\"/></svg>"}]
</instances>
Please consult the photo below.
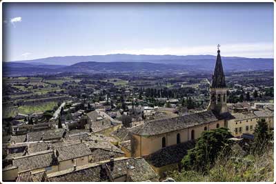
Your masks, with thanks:
<instances>
[{"instance_id":1,"label":"pale blue sky above the mountain range, clouds included","mask_svg":"<svg viewBox=\"0 0 276 184\"><path fill-rule=\"evenodd\" d=\"M273 3L3 3L3 61L95 54L273 58Z\"/></svg>"}]
</instances>

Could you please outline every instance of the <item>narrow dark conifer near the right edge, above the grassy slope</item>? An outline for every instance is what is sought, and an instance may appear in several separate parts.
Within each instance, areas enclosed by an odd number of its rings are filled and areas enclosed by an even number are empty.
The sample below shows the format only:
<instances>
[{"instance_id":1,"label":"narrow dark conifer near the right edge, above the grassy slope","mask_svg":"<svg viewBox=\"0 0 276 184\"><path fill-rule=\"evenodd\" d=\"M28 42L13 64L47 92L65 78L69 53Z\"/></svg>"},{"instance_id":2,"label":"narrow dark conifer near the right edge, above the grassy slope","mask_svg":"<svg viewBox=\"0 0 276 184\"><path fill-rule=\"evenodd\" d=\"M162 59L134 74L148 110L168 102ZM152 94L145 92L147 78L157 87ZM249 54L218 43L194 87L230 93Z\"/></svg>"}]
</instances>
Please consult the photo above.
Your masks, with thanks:
<instances>
[{"instance_id":1,"label":"narrow dark conifer near the right edge, above the grassy slope","mask_svg":"<svg viewBox=\"0 0 276 184\"><path fill-rule=\"evenodd\" d=\"M253 135L253 152L262 154L269 141L268 124L265 119L261 119L257 122Z\"/></svg>"}]
</instances>

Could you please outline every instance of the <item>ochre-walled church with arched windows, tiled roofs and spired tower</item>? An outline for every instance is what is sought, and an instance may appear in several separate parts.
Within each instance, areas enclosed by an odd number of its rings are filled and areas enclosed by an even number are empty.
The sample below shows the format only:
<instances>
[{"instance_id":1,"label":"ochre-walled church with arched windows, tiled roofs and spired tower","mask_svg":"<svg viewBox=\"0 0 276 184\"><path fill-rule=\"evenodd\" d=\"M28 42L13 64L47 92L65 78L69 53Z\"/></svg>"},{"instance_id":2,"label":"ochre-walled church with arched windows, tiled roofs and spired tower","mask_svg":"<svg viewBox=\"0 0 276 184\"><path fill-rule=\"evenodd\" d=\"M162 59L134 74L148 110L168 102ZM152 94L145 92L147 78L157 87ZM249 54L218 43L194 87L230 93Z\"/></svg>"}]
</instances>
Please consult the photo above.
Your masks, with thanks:
<instances>
[{"instance_id":1,"label":"ochre-walled church with arched windows, tiled roofs and spired tower","mask_svg":"<svg viewBox=\"0 0 276 184\"><path fill-rule=\"evenodd\" d=\"M201 132L228 127L228 121L234 118L227 109L227 90L218 47L207 110L148 121L132 128L131 156L143 156L160 176L170 167L179 167L181 159L195 145Z\"/></svg>"}]
</instances>

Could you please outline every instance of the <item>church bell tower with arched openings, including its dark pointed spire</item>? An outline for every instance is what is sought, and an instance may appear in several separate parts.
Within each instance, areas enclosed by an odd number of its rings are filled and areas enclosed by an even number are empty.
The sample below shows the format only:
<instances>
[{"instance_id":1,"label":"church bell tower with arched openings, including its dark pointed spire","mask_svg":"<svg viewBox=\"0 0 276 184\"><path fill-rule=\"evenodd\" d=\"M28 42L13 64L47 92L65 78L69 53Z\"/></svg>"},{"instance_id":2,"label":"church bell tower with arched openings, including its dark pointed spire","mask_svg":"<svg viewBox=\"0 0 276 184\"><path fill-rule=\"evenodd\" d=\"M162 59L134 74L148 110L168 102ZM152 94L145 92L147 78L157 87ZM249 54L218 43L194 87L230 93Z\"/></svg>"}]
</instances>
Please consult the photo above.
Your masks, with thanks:
<instances>
[{"instance_id":1,"label":"church bell tower with arched openings, including its dark pointed spire","mask_svg":"<svg viewBox=\"0 0 276 184\"><path fill-rule=\"evenodd\" d=\"M223 114L224 112L228 112L226 105L228 89L226 88L219 47L220 45L217 45L217 61L210 86L210 104L208 110Z\"/></svg>"}]
</instances>

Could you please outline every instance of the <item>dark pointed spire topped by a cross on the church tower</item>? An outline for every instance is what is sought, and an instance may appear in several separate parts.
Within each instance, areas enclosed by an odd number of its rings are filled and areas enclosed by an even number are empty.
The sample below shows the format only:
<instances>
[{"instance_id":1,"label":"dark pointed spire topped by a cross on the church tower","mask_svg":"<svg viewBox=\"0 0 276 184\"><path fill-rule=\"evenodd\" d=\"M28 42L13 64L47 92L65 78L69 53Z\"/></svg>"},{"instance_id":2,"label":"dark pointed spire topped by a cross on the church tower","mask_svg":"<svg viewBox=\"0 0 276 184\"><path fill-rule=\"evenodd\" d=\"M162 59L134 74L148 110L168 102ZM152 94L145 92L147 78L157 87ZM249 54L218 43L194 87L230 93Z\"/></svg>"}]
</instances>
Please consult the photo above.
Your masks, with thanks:
<instances>
[{"instance_id":1,"label":"dark pointed spire topped by a cross on the church tower","mask_svg":"<svg viewBox=\"0 0 276 184\"><path fill-rule=\"evenodd\" d=\"M222 68L219 47L220 45L217 45L217 61L215 65L211 88L226 88L224 69Z\"/></svg>"}]
</instances>

